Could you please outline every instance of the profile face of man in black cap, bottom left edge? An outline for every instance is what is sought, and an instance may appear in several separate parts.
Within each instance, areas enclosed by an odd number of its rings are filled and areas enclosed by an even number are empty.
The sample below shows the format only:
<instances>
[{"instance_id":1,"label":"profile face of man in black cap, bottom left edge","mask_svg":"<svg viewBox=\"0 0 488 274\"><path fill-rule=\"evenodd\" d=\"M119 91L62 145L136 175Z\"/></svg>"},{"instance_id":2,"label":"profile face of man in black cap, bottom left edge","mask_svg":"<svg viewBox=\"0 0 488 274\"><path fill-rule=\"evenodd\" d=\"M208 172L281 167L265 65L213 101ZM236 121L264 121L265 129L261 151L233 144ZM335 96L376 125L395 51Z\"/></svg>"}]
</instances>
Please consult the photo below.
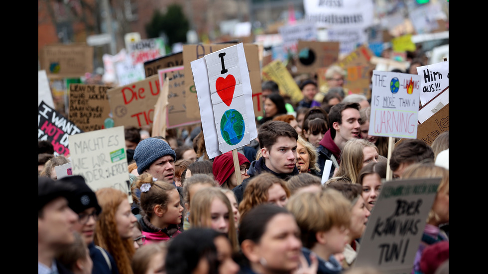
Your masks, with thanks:
<instances>
[{"instance_id":1,"label":"profile face of man in black cap, bottom left edge","mask_svg":"<svg viewBox=\"0 0 488 274\"><path fill-rule=\"evenodd\" d=\"M75 240L74 225L78 215L68 207L68 200L58 197L47 203L38 218L39 239L50 246L70 244Z\"/></svg>"}]
</instances>

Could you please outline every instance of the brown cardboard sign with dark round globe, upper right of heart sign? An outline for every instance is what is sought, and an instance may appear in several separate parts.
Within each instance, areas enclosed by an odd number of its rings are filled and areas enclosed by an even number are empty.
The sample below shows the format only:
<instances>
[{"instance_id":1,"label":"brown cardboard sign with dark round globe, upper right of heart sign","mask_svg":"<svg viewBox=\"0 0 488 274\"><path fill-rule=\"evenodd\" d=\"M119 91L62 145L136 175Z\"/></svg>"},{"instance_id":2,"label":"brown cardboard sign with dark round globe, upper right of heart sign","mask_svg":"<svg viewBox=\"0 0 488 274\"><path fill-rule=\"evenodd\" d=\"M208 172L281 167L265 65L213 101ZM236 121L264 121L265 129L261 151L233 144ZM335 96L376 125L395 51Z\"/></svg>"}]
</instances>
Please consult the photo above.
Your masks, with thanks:
<instances>
[{"instance_id":1,"label":"brown cardboard sign with dark round globe, upper right of heart sign","mask_svg":"<svg viewBox=\"0 0 488 274\"><path fill-rule=\"evenodd\" d=\"M315 73L339 60L339 42L298 41L298 73Z\"/></svg>"}]
</instances>

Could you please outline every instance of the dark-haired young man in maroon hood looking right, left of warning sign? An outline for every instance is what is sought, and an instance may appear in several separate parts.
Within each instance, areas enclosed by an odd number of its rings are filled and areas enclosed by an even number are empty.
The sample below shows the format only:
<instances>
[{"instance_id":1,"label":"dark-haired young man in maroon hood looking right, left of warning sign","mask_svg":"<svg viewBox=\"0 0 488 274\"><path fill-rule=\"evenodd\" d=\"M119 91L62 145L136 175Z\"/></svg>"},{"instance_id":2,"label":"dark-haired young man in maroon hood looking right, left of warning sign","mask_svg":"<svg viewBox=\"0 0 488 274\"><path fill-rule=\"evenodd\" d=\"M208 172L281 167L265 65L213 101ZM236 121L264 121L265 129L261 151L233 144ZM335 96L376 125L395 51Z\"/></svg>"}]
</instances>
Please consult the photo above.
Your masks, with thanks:
<instances>
[{"instance_id":1,"label":"dark-haired young man in maroon hood looking right, left of warning sign","mask_svg":"<svg viewBox=\"0 0 488 274\"><path fill-rule=\"evenodd\" d=\"M361 132L361 114L359 113L360 105L358 103L340 102L329 112L329 130L325 133L324 138L319 143L317 153L319 154L318 164L321 168L320 177L324 172L329 173L331 178L334 170L341 164L341 151L346 142L359 138ZM331 169L324 171L325 161L332 161Z\"/></svg>"}]
</instances>

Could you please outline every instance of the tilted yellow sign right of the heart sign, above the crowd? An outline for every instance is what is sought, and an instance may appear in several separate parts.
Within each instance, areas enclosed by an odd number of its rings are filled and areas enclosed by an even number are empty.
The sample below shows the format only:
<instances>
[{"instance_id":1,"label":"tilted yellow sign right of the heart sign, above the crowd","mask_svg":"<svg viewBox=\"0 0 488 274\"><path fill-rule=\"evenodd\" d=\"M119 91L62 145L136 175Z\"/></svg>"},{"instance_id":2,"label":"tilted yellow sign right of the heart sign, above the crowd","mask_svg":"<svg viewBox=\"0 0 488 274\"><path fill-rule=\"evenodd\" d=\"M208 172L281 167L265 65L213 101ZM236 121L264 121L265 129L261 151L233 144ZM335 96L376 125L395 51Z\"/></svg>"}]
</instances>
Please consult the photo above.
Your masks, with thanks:
<instances>
[{"instance_id":1,"label":"tilted yellow sign right of the heart sign, above the crowd","mask_svg":"<svg viewBox=\"0 0 488 274\"><path fill-rule=\"evenodd\" d=\"M286 67L279 60L274 60L262 68L262 80L276 82L279 90L288 95L291 101L295 104L303 99L300 87L298 87L290 72L288 72Z\"/></svg>"}]
</instances>

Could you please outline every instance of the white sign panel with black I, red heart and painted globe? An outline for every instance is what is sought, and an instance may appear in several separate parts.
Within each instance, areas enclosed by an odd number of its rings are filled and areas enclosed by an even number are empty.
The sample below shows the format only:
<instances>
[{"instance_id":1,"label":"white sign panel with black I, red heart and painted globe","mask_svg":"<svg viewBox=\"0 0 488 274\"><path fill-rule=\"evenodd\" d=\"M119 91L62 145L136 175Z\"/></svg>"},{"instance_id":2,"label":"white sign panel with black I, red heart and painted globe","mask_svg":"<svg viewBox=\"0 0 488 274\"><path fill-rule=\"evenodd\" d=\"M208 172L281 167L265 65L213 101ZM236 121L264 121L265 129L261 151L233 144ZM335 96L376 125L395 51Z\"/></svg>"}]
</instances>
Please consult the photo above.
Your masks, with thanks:
<instances>
[{"instance_id":1,"label":"white sign panel with black I, red heart and painted globe","mask_svg":"<svg viewBox=\"0 0 488 274\"><path fill-rule=\"evenodd\" d=\"M215 127L222 153L250 142L238 46L242 47L242 44L205 55Z\"/></svg>"}]
</instances>

